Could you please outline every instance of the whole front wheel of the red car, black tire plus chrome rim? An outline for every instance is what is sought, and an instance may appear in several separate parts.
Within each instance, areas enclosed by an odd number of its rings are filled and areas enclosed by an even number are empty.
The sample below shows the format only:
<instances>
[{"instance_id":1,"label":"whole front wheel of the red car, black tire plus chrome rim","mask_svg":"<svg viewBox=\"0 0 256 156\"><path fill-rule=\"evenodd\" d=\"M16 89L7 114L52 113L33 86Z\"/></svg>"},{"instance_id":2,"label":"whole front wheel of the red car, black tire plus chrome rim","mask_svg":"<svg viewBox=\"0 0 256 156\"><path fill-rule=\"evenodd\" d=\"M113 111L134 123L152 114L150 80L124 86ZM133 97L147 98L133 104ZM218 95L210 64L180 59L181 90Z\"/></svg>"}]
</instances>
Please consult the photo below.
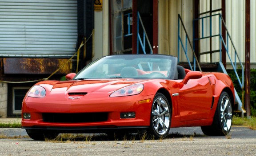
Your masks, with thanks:
<instances>
[{"instance_id":1,"label":"whole front wheel of the red car, black tire plus chrome rim","mask_svg":"<svg viewBox=\"0 0 256 156\"><path fill-rule=\"evenodd\" d=\"M172 109L164 94L156 93L152 103L150 129L151 135L156 139L168 135L171 126Z\"/></svg>"}]
</instances>

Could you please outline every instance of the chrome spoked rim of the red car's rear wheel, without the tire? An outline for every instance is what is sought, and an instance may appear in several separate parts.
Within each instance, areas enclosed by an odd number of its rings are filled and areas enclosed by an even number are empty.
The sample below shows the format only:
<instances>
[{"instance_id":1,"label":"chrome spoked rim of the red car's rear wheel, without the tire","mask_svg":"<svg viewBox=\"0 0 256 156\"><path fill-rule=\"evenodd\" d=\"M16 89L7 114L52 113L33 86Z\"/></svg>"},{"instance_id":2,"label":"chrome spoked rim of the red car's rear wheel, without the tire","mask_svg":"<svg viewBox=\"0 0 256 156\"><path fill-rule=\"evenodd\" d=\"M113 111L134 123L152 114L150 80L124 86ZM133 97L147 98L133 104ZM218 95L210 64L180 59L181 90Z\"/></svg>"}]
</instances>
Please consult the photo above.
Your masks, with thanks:
<instances>
[{"instance_id":1,"label":"chrome spoked rim of the red car's rear wheel, without the tire","mask_svg":"<svg viewBox=\"0 0 256 156\"><path fill-rule=\"evenodd\" d=\"M220 121L225 131L228 131L231 128L232 105L231 105L230 99L226 95L221 99Z\"/></svg>"}]
</instances>

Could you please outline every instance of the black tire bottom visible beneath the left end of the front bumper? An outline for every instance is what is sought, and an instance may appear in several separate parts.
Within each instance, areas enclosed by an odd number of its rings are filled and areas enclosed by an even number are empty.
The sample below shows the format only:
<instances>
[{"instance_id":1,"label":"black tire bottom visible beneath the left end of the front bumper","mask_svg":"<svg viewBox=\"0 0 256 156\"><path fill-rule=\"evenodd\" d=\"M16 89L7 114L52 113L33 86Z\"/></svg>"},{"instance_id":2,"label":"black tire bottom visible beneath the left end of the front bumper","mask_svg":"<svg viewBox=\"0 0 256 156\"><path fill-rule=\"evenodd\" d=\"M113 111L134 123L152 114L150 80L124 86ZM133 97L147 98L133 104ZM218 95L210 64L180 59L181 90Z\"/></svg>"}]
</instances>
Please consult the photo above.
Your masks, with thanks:
<instances>
[{"instance_id":1,"label":"black tire bottom visible beneath the left end of the front bumper","mask_svg":"<svg viewBox=\"0 0 256 156\"><path fill-rule=\"evenodd\" d=\"M28 134L28 136L33 139L33 140L45 140L45 139L55 139L59 133L54 133L54 132L42 132L42 131L38 131L35 129L26 129L26 132Z\"/></svg>"}]
</instances>

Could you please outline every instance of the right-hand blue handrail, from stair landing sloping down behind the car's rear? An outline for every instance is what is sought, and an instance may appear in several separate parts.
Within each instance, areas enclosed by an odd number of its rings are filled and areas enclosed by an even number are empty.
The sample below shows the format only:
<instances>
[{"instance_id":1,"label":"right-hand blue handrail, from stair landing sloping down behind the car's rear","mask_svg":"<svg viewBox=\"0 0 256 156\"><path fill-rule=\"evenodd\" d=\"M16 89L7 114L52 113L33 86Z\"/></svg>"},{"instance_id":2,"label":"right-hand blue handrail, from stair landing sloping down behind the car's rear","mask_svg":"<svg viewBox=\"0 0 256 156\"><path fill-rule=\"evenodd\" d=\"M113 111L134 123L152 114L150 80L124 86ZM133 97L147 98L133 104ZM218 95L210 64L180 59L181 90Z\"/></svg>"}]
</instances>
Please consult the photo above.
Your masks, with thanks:
<instances>
[{"instance_id":1,"label":"right-hand blue handrail, from stair landing sloping down behind the car's rear","mask_svg":"<svg viewBox=\"0 0 256 156\"><path fill-rule=\"evenodd\" d=\"M219 34L217 34L217 35L212 35L212 26L211 26L212 25L211 24L212 23L212 16L219 16ZM204 17L200 17L200 18L197 18L197 19L193 20L193 23L195 21L202 20L202 22L201 22L201 24L202 24L201 25L201 27L202 27L202 30L201 30L202 31L202 36L200 36L198 39L194 38L193 40L196 41L196 40L200 40L200 39L206 39L206 38L211 38L211 37L219 36L220 37L220 50L219 50L219 52L220 52L220 62L222 62L221 50L222 50L222 43L223 43L224 48L226 50L226 53L228 55L228 58L229 58L229 60L231 62L232 68L233 68L233 70L234 70L234 72L236 74L236 78L237 78L237 80L239 82L239 85L240 85L241 89L243 90L244 89L244 66L243 66L239 56L237 55L236 47L235 47L235 45L234 45L234 43L232 41L230 33L228 32L226 23L224 22L224 19L221 16L221 14L215 14L215 15L212 15L212 16L204 16ZM210 30L209 30L210 31L210 35L208 35L208 36L204 36L204 33L203 33L204 32L204 19L206 19L206 18L210 18ZM226 30L226 33L227 33L227 41L226 41L226 43L224 42L224 39L223 39L222 34L221 34L221 23L223 23L223 25L225 27L225 30ZM235 58L234 63L233 63L232 58L231 58L231 56L229 54L229 49L228 49L228 47L229 47L229 40L231 42L232 48L234 49L234 54L235 54L234 55L234 58ZM214 51L214 52L216 52L216 51ZM239 76L237 74L237 66L236 66L237 65L237 59L239 61L241 69L242 69L242 79L241 80L240 80L240 78L239 78Z\"/></svg>"}]
</instances>

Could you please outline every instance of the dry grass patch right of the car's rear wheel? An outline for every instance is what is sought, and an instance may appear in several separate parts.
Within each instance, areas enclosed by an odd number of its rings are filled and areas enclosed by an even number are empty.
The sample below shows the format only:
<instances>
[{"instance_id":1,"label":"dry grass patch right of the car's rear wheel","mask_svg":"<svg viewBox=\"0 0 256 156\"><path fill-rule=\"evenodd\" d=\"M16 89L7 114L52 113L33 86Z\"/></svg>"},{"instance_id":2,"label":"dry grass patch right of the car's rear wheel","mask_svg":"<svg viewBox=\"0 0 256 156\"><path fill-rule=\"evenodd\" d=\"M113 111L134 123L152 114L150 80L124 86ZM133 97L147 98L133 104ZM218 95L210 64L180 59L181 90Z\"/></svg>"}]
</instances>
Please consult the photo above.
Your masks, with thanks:
<instances>
[{"instance_id":1,"label":"dry grass patch right of the car's rear wheel","mask_svg":"<svg viewBox=\"0 0 256 156\"><path fill-rule=\"evenodd\" d=\"M251 117L248 119L246 117L233 117L232 125L243 125L247 126L249 129L256 130L256 117Z\"/></svg>"}]
</instances>

